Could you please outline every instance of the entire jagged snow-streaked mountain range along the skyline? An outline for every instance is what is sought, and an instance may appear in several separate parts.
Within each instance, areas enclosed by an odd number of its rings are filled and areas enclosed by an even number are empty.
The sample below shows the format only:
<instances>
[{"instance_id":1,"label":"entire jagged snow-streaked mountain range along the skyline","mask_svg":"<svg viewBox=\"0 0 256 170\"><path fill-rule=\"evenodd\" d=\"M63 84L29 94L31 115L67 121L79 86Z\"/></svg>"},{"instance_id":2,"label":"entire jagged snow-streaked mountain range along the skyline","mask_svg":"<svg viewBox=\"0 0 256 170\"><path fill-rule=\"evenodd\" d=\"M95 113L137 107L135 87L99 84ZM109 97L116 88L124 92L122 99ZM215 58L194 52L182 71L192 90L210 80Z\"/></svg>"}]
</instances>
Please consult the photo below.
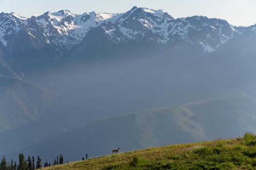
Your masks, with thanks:
<instances>
[{"instance_id":1,"label":"entire jagged snow-streaked mountain range along the skyline","mask_svg":"<svg viewBox=\"0 0 256 170\"><path fill-rule=\"evenodd\" d=\"M215 51L230 38L246 31L222 19L204 16L175 19L163 10L147 8L134 7L121 14L90 12L81 15L61 10L31 18L1 13L0 42L6 47L16 33L24 31L30 38L55 46L57 50L72 48L96 27L101 27L116 43L145 40L172 45L187 41L201 46L204 52Z\"/></svg>"}]
</instances>

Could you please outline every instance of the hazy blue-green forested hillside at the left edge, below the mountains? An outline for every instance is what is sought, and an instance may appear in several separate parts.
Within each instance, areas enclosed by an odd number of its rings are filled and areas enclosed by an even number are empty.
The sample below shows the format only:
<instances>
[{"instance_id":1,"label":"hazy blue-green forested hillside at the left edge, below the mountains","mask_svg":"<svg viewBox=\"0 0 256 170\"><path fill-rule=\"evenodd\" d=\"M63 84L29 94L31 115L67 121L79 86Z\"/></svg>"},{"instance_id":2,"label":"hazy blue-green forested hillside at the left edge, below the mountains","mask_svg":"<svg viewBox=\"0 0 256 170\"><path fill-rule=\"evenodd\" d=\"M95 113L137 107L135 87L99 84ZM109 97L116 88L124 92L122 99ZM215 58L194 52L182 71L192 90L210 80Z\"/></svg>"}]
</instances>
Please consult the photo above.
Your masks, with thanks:
<instances>
[{"instance_id":1,"label":"hazy blue-green forested hillside at the left edge, below the mountains","mask_svg":"<svg viewBox=\"0 0 256 170\"><path fill-rule=\"evenodd\" d=\"M15 78L0 76L0 132L35 120L47 113L55 92Z\"/></svg>"}]
</instances>

